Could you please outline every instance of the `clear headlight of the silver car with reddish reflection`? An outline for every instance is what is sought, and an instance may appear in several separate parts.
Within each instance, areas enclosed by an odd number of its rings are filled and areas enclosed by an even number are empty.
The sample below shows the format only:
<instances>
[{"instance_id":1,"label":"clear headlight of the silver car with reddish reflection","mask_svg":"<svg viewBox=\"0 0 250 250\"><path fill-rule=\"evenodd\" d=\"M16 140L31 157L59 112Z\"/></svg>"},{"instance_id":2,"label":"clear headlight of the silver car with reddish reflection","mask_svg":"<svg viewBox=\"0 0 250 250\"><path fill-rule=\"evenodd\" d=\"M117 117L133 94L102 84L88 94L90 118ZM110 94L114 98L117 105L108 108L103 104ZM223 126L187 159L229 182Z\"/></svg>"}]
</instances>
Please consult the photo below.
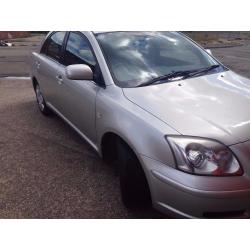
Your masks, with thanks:
<instances>
[{"instance_id":1,"label":"clear headlight of the silver car with reddish reflection","mask_svg":"<svg viewBox=\"0 0 250 250\"><path fill-rule=\"evenodd\" d=\"M167 136L178 169L197 175L242 175L243 170L233 152L209 139Z\"/></svg>"}]
</instances>

